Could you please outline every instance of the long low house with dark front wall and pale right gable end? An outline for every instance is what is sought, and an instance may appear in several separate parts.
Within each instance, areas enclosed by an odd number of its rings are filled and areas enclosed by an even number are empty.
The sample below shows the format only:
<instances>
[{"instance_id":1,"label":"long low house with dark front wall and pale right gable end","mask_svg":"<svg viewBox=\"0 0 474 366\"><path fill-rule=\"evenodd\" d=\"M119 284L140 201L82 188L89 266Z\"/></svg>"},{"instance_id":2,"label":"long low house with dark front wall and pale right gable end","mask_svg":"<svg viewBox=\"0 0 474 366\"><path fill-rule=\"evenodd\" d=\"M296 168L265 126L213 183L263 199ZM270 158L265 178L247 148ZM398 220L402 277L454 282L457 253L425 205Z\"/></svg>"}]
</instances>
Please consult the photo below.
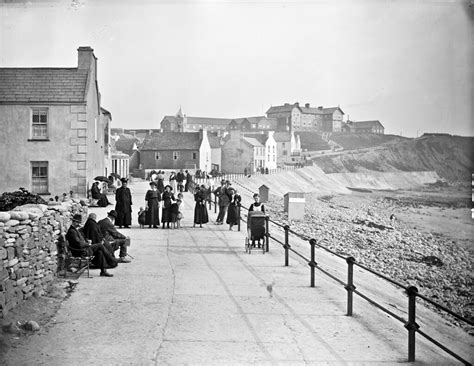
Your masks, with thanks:
<instances>
[{"instance_id":1,"label":"long low house with dark front wall and pale right gable end","mask_svg":"<svg viewBox=\"0 0 474 366\"><path fill-rule=\"evenodd\" d=\"M207 131L161 132L148 136L140 149L140 163L151 169L211 170L211 146Z\"/></svg>"}]
</instances>

